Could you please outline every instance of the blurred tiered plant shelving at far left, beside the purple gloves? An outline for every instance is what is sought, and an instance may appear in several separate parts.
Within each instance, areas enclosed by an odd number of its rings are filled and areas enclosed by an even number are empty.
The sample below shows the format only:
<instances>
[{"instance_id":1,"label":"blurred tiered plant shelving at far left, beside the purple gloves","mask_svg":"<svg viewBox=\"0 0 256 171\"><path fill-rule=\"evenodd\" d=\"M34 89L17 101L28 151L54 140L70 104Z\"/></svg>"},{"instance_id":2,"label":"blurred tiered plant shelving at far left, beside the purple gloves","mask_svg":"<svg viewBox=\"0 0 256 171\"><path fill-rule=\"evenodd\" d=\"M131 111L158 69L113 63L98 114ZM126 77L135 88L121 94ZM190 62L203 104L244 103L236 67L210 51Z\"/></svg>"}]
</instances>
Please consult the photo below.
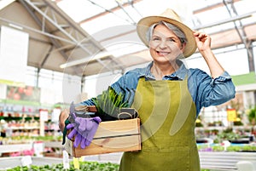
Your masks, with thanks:
<instances>
[{"instance_id":1,"label":"blurred tiered plant shelving at far left, beside the purple gloves","mask_svg":"<svg viewBox=\"0 0 256 171\"><path fill-rule=\"evenodd\" d=\"M53 118L49 113L49 107L45 108L34 102L26 102L22 100L0 100L0 126L3 125L3 129L12 129L17 136L24 134L44 136L45 133L50 134L52 132L55 134L55 132L59 132L58 129L52 129L53 127L49 125L50 123L57 123L56 118L54 118L55 122L51 121Z\"/></svg>"}]
</instances>

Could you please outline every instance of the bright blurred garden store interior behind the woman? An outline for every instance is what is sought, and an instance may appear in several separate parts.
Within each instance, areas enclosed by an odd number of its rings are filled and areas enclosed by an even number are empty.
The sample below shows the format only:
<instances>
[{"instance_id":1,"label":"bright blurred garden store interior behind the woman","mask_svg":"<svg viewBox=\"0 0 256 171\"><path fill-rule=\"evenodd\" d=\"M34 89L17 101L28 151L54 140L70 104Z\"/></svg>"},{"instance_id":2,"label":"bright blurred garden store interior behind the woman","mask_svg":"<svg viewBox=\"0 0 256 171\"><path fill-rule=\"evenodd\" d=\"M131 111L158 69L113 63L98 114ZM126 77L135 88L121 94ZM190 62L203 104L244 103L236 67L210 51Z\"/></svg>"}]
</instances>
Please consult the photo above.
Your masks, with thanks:
<instances>
[{"instance_id":1,"label":"bright blurred garden store interior behind the woman","mask_svg":"<svg viewBox=\"0 0 256 171\"><path fill-rule=\"evenodd\" d=\"M101 94L125 71L147 66L151 57L137 21L169 8L212 37L212 51L236 85L235 99L203 108L196 120L201 169L245 170L239 164L246 162L255 171L255 6L255 0L0 1L0 170L65 168L61 110ZM198 51L183 62L209 73ZM95 168L107 162L114 170L121 154L67 160Z\"/></svg>"}]
</instances>

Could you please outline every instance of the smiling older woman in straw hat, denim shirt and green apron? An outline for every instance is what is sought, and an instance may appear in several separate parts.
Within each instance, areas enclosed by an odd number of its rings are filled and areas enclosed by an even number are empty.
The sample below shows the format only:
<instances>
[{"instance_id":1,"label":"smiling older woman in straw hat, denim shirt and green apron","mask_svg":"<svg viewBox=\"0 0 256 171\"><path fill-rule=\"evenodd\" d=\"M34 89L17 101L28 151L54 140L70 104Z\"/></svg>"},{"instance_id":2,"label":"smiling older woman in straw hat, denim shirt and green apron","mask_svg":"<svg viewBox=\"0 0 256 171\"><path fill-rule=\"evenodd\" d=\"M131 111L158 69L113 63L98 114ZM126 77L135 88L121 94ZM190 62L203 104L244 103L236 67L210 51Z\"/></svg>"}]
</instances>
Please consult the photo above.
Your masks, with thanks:
<instances>
[{"instance_id":1,"label":"smiling older woman in straw hat, denim shirt and green apron","mask_svg":"<svg viewBox=\"0 0 256 171\"><path fill-rule=\"evenodd\" d=\"M172 9L140 20L137 33L153 61L145 68L127 71L111 87L125 94L139 113L142 150L124 152L119 170L200 171L195 120L202 107L234 98L230 75L212 54L211 38L191 31ZM186 68L180 60L194 54L196 48L211 76ZM94 105L92 100L81 104Z\"/></svg>"}]
</instances>

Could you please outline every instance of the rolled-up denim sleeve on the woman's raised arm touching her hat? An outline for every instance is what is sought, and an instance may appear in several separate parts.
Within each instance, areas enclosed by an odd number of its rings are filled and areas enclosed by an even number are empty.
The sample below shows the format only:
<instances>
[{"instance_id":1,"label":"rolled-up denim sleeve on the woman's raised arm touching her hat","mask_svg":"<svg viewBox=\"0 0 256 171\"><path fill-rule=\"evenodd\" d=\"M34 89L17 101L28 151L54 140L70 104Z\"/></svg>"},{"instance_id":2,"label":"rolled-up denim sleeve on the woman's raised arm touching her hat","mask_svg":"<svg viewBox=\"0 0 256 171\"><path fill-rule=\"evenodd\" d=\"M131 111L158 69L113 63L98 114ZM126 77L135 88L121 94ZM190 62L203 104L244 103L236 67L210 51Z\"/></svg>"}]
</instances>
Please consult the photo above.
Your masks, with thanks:
<instances>
[{"instance_id":1,"label":"rolled-up denim sleeve on the woman's raised arm touching her hat","mask_svg":"<svg viewBox=\"0 0 256 171\"><path fill-rule=\"evenodd\" d=\"M197 112L201 107L221 105L235 97L236 88L227 71L216 78L206 72L194 70L191 72L189 90L195 100Z\"/></svg>"}]
</instances>

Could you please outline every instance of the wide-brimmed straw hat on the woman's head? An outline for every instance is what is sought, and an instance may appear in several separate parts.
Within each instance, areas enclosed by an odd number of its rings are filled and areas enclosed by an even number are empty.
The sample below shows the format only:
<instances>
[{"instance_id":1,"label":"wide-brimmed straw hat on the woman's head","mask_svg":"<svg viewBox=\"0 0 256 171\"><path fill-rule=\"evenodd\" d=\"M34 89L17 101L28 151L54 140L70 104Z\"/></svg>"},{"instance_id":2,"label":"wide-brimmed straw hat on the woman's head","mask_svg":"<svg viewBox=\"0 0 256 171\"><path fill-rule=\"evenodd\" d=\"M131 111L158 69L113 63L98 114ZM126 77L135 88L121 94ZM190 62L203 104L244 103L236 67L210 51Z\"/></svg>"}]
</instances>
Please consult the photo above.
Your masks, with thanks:
<instances>
[{"instance_id":1,"label":"wide-brimmed straw hat on the woman's head","mask_svg":"<svg viewBox=\"0 0 256 171\"><path fill-rule=\"evenodd\" d=\"M137 34L146 46L148 46L148 41L146 38L148 28L153 24L158 23L160 20L166 21L174 26L177 26L185 34L188 42L186 43L183 52L184 57L189 57L191 54L195 53L195 49L197 48L197 46L195 43L193 31L188 26L185 26L182 23L180 17L172 9L166 9L166 11L163 14L156 16L148 16L138 21Z\"/></svg>"}]
</instances>

